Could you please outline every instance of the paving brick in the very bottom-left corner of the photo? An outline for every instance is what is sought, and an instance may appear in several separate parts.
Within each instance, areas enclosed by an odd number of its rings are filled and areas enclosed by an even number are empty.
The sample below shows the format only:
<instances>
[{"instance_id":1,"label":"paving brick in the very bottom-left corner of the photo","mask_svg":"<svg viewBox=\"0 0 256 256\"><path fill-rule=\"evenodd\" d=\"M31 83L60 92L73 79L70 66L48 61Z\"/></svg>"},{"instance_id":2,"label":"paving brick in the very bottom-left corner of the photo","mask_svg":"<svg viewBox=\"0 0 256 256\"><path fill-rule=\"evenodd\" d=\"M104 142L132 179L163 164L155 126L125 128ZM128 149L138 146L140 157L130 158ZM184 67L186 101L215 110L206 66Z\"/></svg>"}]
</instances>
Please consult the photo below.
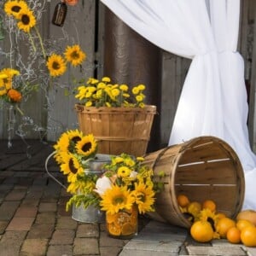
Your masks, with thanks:
<instances>
[{"instance_id":1,"label":"paving brick in the very bottom-left corner of the photo","mask_svg":"<svg viewBox=\"0 0 256 256\"><path fill-rule=\"evenodd\" d=\"M20 247L26 231L6 231L0 241L0 256L20 256Z\"/></svg>"}]
</instances>

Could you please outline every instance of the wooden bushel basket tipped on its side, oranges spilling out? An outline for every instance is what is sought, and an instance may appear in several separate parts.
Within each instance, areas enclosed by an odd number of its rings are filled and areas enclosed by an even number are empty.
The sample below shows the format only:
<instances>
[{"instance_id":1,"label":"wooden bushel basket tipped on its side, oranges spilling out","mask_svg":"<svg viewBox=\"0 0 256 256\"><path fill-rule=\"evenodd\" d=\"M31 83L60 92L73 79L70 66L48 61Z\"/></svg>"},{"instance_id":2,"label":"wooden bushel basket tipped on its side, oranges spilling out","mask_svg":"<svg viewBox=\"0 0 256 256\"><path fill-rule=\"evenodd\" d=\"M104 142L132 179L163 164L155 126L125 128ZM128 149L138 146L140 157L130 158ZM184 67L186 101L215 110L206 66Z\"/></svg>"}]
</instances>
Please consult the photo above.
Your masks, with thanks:
<instances>
[{"instance_id":1,"label":"wooden bushel basket tipped on its side, oranges spilling out","mask_svg":"<svg viewBox=\"0 0 256 256\"><path fill-rule=\"evenodd\" d=\"M235 151L217 137L196 137L186 143L146 154L144 163L154 174L164 171L165 189L157 195L149 217L189 228L191 223L177 205L177 195L190 201L216 202L218 212L234 218L241 211L245 181Z\"/></svg>"}]
</instances>

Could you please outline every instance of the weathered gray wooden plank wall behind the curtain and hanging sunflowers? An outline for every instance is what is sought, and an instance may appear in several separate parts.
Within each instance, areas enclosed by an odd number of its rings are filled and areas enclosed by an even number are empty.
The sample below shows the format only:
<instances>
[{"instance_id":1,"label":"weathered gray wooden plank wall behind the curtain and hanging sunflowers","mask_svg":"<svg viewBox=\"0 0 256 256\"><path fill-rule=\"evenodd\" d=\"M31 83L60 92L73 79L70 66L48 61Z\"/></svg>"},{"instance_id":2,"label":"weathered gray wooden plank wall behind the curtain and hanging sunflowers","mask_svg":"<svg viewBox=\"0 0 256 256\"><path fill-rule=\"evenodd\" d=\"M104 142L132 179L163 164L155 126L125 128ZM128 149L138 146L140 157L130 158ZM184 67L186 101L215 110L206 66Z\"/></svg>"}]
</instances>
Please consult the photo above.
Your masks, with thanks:
<instances>
[{"instance_id":1,"label":"weathered gray wooden plank wall behind the curtain and hanging sunflowers","mask_svg":"<svg viewBox=\"0 0 256 256\"><path fill-rule=\"evenodd\" d=\"M104 6L99 3L99 24L98 24L98 42L95 49L95 0L79 0L79 5L69 7L67 20L63 28L50 24L53 9L58 1L49 2L49 11L44 14L44 24L41 24L41 31L44 37L50 40L62 38L63 34L68 34L67 40L62 44L79 43L86 52L87 60L84 62L82 71L68 72L61 83L64 86L71 81L73 75L88 78L95 71L95 61L97 63L97 74L99 77L104 75ZM250 93L248 128L253 148L256 148L256 28L255 20L255 1L241 1L241 31L239 38L239 51L245 60L245 78L247 88ZM44 26L43 26L44 25ZM8 47L6 42L1 41L0 47ZM182 90L183 81L189 68L190 60L177 55L172 55L161 51L162 75L161 84L161 107L160 113L160 144L162 147L168 143L172 123L175 116L177 102ZM0 58L0 67L3 67L3 59ZM26 109L29 115L35 120L35 123L47 128L47 139L55 140L61 132L67 128L77 127L76 114L73 112L73 96L64 96L64 90L61 88L52 88L49 90L49 99L52 106L48 110L44 109L45 99L42 95L36 95L32 102L26 102ZM6 131L6 112L0 110L0 138L7 137ZM44 132L43 132L44 133ZM31 131L27 137L38 137L38 131ZM40 136L42 136L40 134Z\"/></svg>"}]
</instances>

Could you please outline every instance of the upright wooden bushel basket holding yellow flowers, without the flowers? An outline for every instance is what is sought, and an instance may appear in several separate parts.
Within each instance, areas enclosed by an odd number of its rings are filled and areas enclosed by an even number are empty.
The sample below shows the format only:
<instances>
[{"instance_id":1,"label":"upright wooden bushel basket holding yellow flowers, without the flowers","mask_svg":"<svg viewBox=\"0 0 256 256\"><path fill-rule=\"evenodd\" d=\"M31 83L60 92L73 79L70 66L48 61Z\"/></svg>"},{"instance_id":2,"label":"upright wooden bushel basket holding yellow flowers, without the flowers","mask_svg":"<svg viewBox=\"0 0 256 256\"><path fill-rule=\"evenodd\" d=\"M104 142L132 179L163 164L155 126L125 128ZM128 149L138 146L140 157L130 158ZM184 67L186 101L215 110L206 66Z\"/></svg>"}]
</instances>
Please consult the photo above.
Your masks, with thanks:
<instances>
[{"instance_id":1,"label":"upright wooden bushel basket holding yellow flowers, without the flowers","mask_svg":"<svg viewBox=\"0 0 256 256\"><path fill-rule=\"evenodd\" d=\"M156 113L155 106L145 108L86 108L75 105L79 129L92 133L101 154L146 154Z\"/></svg>"}]
</instances>

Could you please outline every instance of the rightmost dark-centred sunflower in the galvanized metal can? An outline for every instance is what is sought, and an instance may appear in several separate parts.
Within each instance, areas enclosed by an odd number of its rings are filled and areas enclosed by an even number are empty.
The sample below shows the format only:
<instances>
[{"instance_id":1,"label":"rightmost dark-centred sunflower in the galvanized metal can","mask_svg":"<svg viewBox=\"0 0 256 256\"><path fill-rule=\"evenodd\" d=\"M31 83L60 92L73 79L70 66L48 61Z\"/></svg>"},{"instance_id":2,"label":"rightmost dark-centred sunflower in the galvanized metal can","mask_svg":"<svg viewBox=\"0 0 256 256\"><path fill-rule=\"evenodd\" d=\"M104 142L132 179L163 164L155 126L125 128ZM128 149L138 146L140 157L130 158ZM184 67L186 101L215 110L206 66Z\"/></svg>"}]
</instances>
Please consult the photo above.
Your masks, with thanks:
<instances>
[{"instance_id":1,"label":"rightmost dark-centred sunflower in the galvanized metal can","mask_svg":"<svg viewBox=\"0 0 256 256\"><path fill-rule=\"evenodd\" d=\"M78 154L84 156L90 156L96 153L96 140L92 134L82 137L82 139L76 144Z\"/></svg>"}]
</instances>

